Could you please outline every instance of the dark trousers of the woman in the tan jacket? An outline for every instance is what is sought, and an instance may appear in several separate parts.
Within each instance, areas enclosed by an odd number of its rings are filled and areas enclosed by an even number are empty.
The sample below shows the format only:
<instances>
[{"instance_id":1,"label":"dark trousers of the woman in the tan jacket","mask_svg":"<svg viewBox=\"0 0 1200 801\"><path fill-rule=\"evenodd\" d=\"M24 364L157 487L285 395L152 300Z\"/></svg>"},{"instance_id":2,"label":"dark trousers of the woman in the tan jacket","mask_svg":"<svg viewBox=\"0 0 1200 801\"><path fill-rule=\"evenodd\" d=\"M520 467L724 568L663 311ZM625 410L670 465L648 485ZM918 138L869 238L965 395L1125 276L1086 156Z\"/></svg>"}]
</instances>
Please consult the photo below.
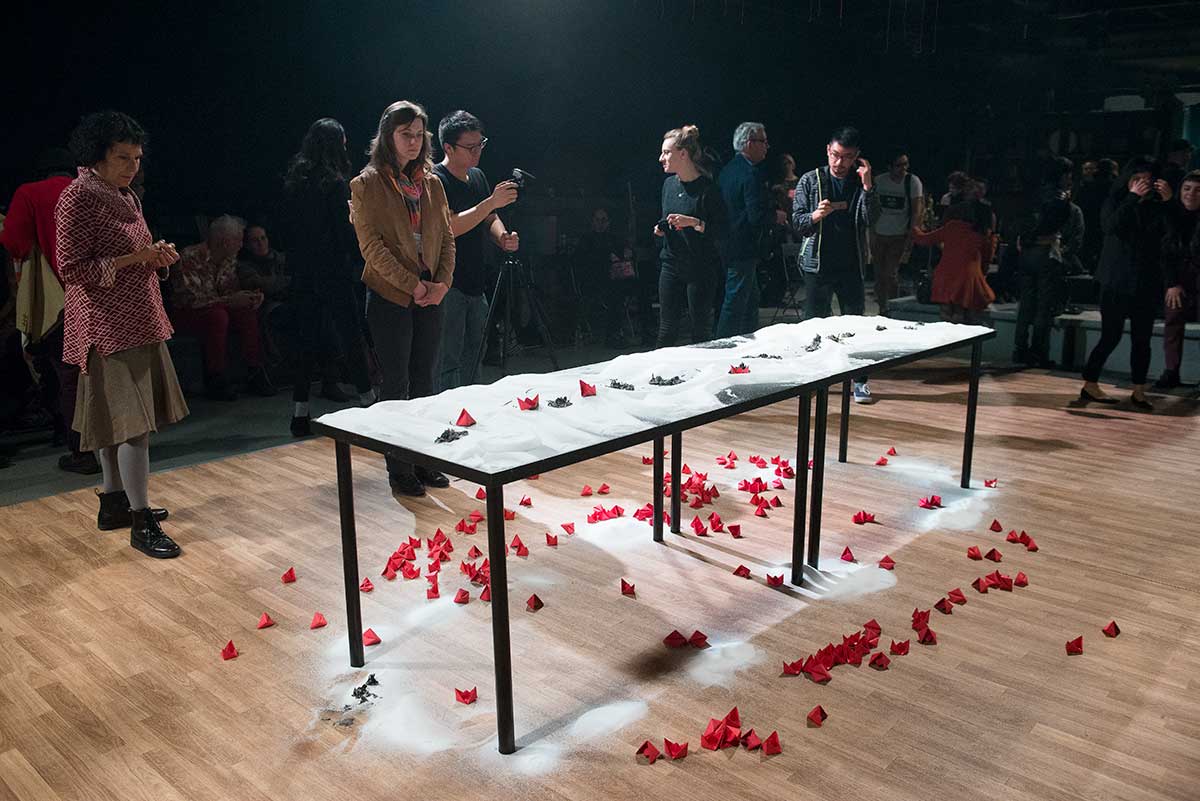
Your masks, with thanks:
<instances>
[{"instance_id":1,"label":"dark trousers of the woman in the tan jacket","mask_svg":"<svg viewBox=\"0 0 1200 801\"><path fill-rule=\"evenodd\" d=\"M380 399L409 401L433 395L442 342L442 307L400 306L368 291L367 326L383 369ZM389 475L413 471L412 464L391 453L384 458Z\"/></svg>"}]
</instances>

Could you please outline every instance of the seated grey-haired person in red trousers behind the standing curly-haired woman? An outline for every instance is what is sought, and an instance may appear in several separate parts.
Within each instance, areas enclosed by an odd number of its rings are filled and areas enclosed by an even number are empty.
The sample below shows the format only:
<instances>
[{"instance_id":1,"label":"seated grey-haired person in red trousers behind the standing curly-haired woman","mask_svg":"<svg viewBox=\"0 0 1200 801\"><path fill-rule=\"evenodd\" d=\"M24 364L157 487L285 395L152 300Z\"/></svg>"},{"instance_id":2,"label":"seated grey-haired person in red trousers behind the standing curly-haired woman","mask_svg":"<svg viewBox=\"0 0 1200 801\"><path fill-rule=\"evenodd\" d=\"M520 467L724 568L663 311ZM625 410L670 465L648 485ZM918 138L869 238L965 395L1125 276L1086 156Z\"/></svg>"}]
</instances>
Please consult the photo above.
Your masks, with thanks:
<instances>
[{"instance_id":1,"label":"seated grey-haired person in red trousers behind the standing curly-haired woman","mask_svg":"<svg viewBox=\"0 0 1200 801\"><path fill-rule=\"evenodd\" d=\"M236 331L241 356L251 369L250 390L264 397L275 395L258 330L263 293L241 289L238 283L238 252L245 231L246 223L238 217L217 217L209 224L208 240L184 248L170 271L172 320L179 331L203 343L205 395L214 401L238 397L226 375L229 329Z\"/></svg>"}]
</instances>

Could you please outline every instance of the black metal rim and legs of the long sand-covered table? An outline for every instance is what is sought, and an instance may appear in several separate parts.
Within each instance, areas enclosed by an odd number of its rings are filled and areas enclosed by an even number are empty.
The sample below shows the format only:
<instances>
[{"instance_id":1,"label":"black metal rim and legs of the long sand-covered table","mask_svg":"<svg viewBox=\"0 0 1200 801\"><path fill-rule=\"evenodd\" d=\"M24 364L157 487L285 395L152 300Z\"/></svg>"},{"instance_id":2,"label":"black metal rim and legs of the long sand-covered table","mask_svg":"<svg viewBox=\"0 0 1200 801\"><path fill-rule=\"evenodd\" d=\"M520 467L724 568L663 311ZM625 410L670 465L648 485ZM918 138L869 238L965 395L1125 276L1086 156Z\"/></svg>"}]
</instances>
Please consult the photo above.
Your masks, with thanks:
<instances>
[{"instance_id":1,"label":"black metal rim and legs of the long sand-covered table","mask_svg":"<svg viewBox=\"0 0 1200 801\"><path fill-rule=\"evenodd\" d=\"M846 462L846 447L850 436L850 401L851 381L871 372L900 367L912 362L938 356L966 347L971 348L971 366L967 374L967 408L962 436L961 486L971 486L971 460L974 450L976 411L979 401L979 374L983 355L983 343L996 336L995 331L982 332L949 344L929 348L920 351L884 359L871 363L868 368L854 367L832 375L822 377L794 386L788 386L758 397L731 403L720 409L673 421L646 430L581 447L570 452L521 464L518 466L485 471L470 465L457 464L437 456L420 451L398 447L360 433L314 421L313 432L334 439L337 459L337 496L342 528L342 571L346 582L346 618L347 634L350 648L350 666L361 668L366 663L362 644L362 615L359 603L359 559L358 534L354 522L354 480L350 464L350 446L358 446L377 453L394 453L398 458L440 470L452 476L482 484L487 492L487 559L491 566L491 613L492 613L492 649L496 668L496 717L499 736L499 751L510 754L516 751L512 709L512 658L509 637L509 588L506 566L506 542L504 536L504 487L514 481L548 472L568 465L578 464L598 456L622 451L647 441L654 444L654 477L650 487L654 498L653 537L662 542L664 537L664 501L662 484L665 478L664 445L671 439L671 531L680 530L680 469L683 464L683 433L706 426L718 420L725 420L773 405L784 401L799 398L797 415L796 446L796 499L794 524L792 530L791 583L804 584L805 561L817 567L821 553L821 506L824 490L824 448L826 427L828 421L829 389L841 384L841 420L838 448L839 462ZM814 397L816 414L814 420ZM811 446L811 499L809 484L805 481ZM805 542L808 555L805 560Z\"/></svg>"}]
</instances>

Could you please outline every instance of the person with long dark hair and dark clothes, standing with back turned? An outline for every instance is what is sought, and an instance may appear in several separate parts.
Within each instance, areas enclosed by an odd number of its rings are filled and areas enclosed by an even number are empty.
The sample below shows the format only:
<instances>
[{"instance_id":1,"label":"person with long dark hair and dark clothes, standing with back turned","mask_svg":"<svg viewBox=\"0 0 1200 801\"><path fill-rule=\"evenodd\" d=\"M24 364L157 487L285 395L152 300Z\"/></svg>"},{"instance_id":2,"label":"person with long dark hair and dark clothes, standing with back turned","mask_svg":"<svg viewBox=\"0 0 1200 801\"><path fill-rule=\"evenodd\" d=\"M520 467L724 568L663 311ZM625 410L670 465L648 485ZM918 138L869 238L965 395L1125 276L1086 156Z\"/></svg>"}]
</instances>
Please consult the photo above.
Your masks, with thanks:
<instances>
[{"instance_id":1,"label":"person with long dark hair and dark clothes, standing with back turned","mask_svg":"<svg viewBox=\"0 0 1200 801\"><path fill-rule=\"evenodd\" d=\"M359 245L349 218L350 173L346 131L337 120L325 118L308 127L283 182L292 297L300 335L292 387L295 436L311 433L308 387L324 350L319 338L325 315L341 342L359 403L370 405L374 399L354 295L353 263Z\"/></svg>"}]
</instances>

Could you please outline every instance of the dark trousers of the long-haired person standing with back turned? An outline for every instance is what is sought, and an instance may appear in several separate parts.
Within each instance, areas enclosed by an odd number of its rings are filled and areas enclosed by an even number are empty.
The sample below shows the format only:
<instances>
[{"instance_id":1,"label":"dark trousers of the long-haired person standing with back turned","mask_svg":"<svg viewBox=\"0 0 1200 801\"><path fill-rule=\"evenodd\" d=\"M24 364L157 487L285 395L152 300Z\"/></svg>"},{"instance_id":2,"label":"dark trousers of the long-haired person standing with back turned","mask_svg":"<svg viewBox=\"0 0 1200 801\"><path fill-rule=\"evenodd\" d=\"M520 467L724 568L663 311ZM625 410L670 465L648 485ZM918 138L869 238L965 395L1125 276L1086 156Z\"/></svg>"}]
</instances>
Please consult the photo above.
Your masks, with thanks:
<instances>
[{"instance_id":1,"label":"dark trousers of the long-haired person standing with back turned","mask_svg":"<svg viewBox=\"0 0 1200 801\"><path fill-rule=\"evenodd\" d=\"M295 321L298 341L292 399L296 403L308 401L312 374L322 355L330 350L328 343L320 341L326 319L341 342L354 389L359 395L370 390L371 379L367 377L366 345L362 342L362 325L359 319L354 289L346 284L344 287L326 287L322 294L304 293L294 296L292 306L292 319Z\"/></svg>"}]
</instances>

